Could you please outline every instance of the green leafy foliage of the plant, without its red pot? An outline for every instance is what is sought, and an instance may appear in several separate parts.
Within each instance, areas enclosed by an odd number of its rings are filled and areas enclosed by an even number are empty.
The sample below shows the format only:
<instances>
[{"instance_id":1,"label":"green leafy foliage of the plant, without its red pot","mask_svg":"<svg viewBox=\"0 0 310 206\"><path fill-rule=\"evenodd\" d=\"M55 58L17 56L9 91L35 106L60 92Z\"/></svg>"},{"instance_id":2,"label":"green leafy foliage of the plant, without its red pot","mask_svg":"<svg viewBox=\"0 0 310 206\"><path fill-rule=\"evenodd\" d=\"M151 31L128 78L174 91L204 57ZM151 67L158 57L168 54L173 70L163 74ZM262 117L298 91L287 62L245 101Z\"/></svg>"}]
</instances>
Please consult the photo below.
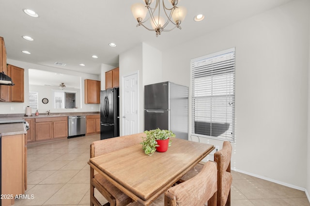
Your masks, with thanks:
<instances>
[{"instance_id":1,"label":"green leafy foliage of the plant, without its red pot","mask_svg":"<svg viewBox=\"0 0 310 206\"><path fill-rule=\"evenodd\" d=\"M152 155L156 151L156 147L158 147L157 142L155 140L165 140L170 137L175 137L175 134L169 130L160 130L159 128L155 130L144 131L146 137L142 137L143 142L142 149L144 153L147 155ZM169 139L169 147L171 146L172 140Z\"/></svg>"}]
</instances>

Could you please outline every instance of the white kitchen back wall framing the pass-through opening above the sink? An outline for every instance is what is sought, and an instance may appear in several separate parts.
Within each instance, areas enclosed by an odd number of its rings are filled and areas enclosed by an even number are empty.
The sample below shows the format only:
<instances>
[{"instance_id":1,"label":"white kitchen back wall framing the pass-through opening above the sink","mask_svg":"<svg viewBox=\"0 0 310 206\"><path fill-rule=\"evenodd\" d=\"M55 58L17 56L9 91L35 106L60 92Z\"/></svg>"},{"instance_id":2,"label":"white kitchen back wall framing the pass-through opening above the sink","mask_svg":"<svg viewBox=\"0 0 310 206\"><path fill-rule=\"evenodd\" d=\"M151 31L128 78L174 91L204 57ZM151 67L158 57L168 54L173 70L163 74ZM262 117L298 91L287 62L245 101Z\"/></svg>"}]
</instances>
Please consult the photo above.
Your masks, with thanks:
<instances>
[{"instance_id":1,"label":"white kitchen back wall framing the pass-through opening above the sink","mask_svg":"<svg viewBox=\"0 0 310 206\"><path fill-rule=\"evenodd\" d=\"M54 67L47 67L42 66L38 64L32 64L28 62L23 61L17 61L14 59L7 59L8 64L12 64L14 66L23 68L25 70L24 74L24 103L3 103L0 102L0 114L24 114L25 113L25 107L29 104L29 75L28 75L28 69L38 69L38 70L45 70L50 72L58 72L62 74L70 74L70 75L76 75L81 76L81 95L80 95L80 102L82 103L82 108L77 109L53 109L53 105L51 103L48 103L46 106L49 106L50 112L98 112L100 111L100 104L85 104L84 103L84 79L93 79L93 80L100 80L99 75L93 75L93 74L86 74L86 73L80 73L80 72L74 72L70 70L64 70ZM40 101L40 100L39 100ZM78 106L79 107L79 106ZM39 113L45 113L47 110L46 108L40 108L39 107ZM35 112L35 111L32 111Z\"/></svg>"}]
</instances>

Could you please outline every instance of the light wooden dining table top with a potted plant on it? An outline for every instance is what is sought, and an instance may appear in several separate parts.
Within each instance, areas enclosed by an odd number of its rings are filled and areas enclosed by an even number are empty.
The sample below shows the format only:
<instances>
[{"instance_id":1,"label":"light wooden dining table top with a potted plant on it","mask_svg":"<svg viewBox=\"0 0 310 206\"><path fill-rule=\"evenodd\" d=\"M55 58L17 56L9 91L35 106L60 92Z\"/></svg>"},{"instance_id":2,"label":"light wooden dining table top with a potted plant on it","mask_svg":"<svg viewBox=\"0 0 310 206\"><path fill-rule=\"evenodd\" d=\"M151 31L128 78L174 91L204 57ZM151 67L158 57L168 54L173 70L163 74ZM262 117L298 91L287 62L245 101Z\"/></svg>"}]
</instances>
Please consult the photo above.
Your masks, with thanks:
<instances>
[{"instance_id":1,"label":"light wooden dining table top with a potted plant on it","mask_svg":"<svg viewBox=\"0 0 310 206\"><path fill-rule=\"evenodd\" d=\"M137 144L91 158L89 164L134 201L147 206L214 148L173 138L166 152L149 156Z\"/></svg>"}]
</instances>

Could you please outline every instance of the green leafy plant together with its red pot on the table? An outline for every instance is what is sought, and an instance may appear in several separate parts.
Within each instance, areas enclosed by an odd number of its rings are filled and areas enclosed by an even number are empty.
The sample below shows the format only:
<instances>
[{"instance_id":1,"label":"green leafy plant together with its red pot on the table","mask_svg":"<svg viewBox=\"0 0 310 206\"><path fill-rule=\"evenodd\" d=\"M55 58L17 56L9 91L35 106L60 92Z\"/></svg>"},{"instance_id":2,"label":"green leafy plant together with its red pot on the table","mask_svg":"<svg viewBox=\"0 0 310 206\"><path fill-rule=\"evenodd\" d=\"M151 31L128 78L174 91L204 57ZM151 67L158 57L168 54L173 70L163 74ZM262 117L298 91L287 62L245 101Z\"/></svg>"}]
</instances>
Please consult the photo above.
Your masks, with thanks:
<instances>
[{"instance_id":1,"label":"green leafy plant together with its red pot on the table","mask_svg":"<svg viewBox=\"0 0 310 206\"><path fill-rule=\"evenodd\" d=\"M144 131L146 137L142 137L143 142L142 149L147 155L152 155L155 150L158 152L167 151L168 147L171 146L172 140L170 137L175 137L175 134L169 130L160 130L159 128L155 130Z\"/></svg>"}]
</instances>

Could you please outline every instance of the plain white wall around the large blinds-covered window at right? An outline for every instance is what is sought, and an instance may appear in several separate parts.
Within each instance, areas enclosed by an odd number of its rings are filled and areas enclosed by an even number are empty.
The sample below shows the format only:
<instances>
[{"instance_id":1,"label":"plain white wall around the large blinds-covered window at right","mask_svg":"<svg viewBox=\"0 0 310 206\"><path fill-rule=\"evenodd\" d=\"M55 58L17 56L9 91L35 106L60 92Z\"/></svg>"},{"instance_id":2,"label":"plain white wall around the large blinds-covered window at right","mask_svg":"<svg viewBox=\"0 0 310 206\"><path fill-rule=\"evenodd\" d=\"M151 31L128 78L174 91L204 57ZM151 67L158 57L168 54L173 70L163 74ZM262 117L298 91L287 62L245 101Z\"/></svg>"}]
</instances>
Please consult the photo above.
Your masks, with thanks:
<instances>
[{"instance_id":1,"label":"plain white wall around the large blinds-covered window at right","mask_svg":"<svg viewBox=\"0 0 310 206\"><path fill-rule=\"evenodd\" d=\"M190 59L235 47L232 167L298 189L307 179L309 14L309 0L291 1L163 52L163 76L190 86Z\"/></svg>"}]
</instances>

